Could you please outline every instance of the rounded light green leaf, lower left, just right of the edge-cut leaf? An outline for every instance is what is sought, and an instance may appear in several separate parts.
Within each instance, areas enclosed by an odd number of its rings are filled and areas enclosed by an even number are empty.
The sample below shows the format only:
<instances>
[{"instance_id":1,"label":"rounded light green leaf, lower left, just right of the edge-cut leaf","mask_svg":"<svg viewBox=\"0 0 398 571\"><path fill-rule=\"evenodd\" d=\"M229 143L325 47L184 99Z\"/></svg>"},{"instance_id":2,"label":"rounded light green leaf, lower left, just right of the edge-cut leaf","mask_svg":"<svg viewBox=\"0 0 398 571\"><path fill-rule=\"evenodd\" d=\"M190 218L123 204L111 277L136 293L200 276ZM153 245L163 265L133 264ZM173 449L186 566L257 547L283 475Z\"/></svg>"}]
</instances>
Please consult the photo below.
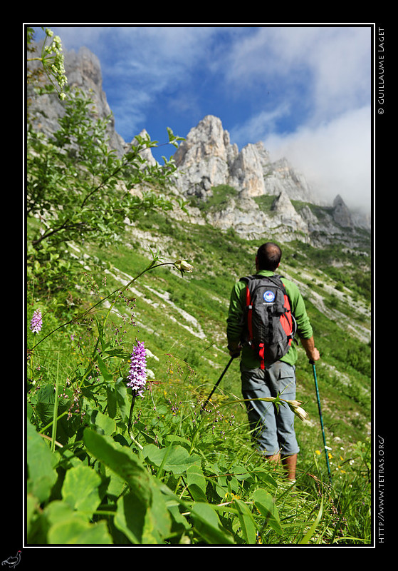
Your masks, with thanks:
<instances>
[{"instance_id":1,"label":"rounded light green leaf, lower left, just right of the edge-cut leaf","mask_svg":"<svg viewBox=\"0 0 398 571\"><path fill-rule=\"evenodd\" d=\"M70 507L92 515L100 504L98 487L101 478L88 466L76 466L67 470L63 481L62 497Z\"/></svg>"}]
</instances>

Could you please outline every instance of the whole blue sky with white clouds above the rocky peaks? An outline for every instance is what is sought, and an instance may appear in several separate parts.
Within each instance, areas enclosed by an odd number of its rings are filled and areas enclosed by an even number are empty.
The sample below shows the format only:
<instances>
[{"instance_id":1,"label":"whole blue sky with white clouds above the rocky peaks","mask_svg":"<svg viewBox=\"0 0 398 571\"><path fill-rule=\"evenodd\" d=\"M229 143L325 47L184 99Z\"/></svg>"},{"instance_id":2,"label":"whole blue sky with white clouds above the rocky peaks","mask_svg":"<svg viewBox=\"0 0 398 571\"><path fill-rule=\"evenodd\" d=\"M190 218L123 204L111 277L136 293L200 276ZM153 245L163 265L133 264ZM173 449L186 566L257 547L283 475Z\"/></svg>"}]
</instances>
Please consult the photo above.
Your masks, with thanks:
<instances>
[{"instance_id":1,"label":"whole blue sky with white clouds above the rocky peaks","mask_svg":"<svg viewBox=\"0 0 398 571\"><path fill-rule=\"evenodd\" d=\"M212 114L239 149L263 141L319 196L369 212L371 24L43 26L98 56L125 141L186 136Z\"/></svg>"}]
</instances>

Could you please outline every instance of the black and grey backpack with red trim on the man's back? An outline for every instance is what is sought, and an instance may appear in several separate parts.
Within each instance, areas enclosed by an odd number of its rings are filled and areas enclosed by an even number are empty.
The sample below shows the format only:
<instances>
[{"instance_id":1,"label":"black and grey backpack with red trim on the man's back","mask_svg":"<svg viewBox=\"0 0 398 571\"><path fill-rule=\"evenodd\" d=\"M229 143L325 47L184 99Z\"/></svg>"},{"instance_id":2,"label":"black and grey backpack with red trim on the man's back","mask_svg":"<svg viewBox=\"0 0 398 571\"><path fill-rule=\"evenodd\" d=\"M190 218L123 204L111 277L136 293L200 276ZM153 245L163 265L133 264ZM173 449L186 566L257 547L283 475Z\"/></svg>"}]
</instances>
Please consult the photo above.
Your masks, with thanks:
<instances>
[{"instance_id":1,"label":"black and grey backpack with red trim on the man's back","mask_svg":"<svg viewBox=\"0 0 398 571\"><path fill-rule=\"evenodd\" d=\"M288 353L296 331L295 318L281 276L247 276L245 337L260 358L261 368ZM296 341L297 343L297 341Z\"/></svg>"}]
</instances>

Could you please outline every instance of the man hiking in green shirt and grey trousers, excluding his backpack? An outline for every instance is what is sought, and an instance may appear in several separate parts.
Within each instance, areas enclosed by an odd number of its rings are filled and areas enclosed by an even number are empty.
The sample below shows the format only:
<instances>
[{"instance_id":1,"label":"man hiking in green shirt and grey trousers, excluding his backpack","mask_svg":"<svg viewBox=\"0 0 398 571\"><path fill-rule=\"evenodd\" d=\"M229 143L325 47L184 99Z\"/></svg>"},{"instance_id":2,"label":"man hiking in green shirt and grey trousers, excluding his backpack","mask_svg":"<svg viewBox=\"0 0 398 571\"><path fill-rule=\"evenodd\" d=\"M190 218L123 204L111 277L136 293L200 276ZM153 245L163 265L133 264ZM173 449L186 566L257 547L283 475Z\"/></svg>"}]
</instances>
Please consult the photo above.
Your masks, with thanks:
<instances>
[{"instance_id":1,"label":"man hiking in green shirt and grey trousers, excluding his backpack","mask_svg":"<svg viewBox=\"0 0 398 571\"><path fill-rule=\"evenodd\" d=\"M281 261L281 248L272 242L260 246L256 255L256 275L271 276L275 279L276 269ZM285 293L291 305L296 324L296 335L312 361L320 358L315 348L313 328L310 325L303 297L295 283L282 278ZM231 357L241 356L241 388L245 399L276 397L279 393L284 400L295 400L295 362L297 346L288 340L287 353L275 362L267 362L266 350L256 352L256 343L248 343L246 313L247 280L235 283L231 291L229 315L226 320L226 335ZM263 300L273 299L273 293L266 290ZM286 298L285 298L286 300ZM266 303L261 303L266 305ZM294 321L293 320L293 321ZM297 341L296 341L297 343ZM274 357L275 358L275 357ZM271 359L271 358L270 358ZM271 359L272 360L272 359ZM281 460L288 480L295 481L297 455L300 451L295 437L294 413L286 405L279 405L278 411L272 402L264 400L246 401L248 421L256 440L256 448L266 460Z\"/></svg>"}]
</instances>

